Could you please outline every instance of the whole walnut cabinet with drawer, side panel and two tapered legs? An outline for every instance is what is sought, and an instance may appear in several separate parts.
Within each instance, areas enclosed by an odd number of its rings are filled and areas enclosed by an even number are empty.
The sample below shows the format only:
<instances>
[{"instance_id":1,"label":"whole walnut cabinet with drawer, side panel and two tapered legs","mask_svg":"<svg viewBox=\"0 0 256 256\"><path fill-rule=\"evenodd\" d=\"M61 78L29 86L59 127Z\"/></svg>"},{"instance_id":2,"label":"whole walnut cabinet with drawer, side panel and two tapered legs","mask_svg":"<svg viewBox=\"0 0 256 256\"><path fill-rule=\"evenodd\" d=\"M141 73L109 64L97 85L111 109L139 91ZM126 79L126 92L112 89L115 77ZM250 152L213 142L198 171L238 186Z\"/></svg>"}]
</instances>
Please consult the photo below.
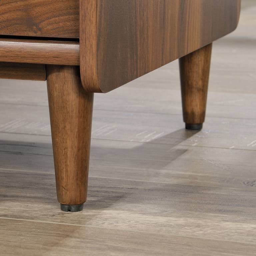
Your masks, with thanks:
<instances>
[{"instance_id":1,"label":"whole walnut cabinet with drawer, side panel and two tapered legs","mask_svg":"<svg viewBox=\"0 0 256 256\"><path fill-rule=\"evenodd\" d=\"M184 122L201 129L212 42L240 0L5 0L0 14L0 78L47 80L58 201L80 211L93 93L180 59Z\"/></svg>"}]
</instances>

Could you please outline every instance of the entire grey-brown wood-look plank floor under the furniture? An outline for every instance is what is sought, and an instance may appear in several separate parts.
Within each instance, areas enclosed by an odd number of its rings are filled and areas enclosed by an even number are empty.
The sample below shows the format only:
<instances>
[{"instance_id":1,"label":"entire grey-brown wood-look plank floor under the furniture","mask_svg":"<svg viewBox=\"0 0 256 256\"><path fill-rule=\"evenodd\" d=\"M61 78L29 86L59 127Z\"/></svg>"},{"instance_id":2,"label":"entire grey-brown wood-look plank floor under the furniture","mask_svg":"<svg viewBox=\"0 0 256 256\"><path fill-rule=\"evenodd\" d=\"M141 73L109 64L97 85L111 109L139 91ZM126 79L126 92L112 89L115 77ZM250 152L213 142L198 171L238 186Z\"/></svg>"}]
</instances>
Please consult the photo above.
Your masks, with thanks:
<instances>
[{"instance_id":1,"label":"entire grey-brown wood-look plank floor under the furniture","mask_svg":"<svg viewBox=\"0 0 256 256\"><path fill-rule=\"evenodd\" d=\"M46 84L0 81L0 255L255 255L256 1L214 43L203 130L174 61L95 95L88 201L56 201Z\"/></svg>"}]
</instances>

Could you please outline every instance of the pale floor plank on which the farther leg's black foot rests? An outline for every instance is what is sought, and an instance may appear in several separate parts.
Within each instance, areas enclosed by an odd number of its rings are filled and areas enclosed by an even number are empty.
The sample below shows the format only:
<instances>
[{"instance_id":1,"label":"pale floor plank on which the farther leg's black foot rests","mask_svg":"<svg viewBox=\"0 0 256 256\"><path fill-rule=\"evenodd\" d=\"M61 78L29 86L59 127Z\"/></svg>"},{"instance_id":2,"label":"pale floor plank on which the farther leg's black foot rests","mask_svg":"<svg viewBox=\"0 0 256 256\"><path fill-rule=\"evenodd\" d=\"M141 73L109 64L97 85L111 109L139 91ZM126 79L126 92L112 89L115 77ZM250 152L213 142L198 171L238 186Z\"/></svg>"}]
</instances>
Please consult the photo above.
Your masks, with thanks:
<instances>
[{"instance_id":1,"label":"pale floor plank on which the farther leg's black foot rests","mask_svg":"<svg viewBox=\"0 0 256 256\"><path fill-rule=\"evenodd\" d=\"M253 116L254 111L248 111L248 115ZM50 136L48 107L7 104L0 109L0 116L1 144L7 138L12 140L8 135L12 133ZM181 115L95 109L92 138L256 150L255 125L253 118L207 117L203 130L191 132L184 129Z\"/></svg>"}]
</instances>

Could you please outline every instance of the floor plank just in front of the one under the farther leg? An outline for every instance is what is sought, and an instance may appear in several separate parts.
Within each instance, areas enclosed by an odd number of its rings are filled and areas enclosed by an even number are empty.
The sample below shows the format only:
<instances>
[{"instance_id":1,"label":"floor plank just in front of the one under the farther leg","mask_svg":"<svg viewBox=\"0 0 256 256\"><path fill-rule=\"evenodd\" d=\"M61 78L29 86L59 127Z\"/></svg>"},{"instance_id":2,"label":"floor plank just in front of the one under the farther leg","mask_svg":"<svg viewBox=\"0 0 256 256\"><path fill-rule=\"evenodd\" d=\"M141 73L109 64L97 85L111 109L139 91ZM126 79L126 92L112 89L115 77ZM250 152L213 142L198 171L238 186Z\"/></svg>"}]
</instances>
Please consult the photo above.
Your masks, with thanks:
<instances>
[{"instance_id":1,"label":"floor plank just in front of the one under the farther leg","mask_svg":"<svg viewBox=\"0 0 256 256\"><path fill-rule=\"evenodd\" d=\"M246 188L254 184L254 156L249 150L92 140L90 176ZM0 160L2 169L54 173L50 141L10 143Z\"/></svg>"}]
</instances>

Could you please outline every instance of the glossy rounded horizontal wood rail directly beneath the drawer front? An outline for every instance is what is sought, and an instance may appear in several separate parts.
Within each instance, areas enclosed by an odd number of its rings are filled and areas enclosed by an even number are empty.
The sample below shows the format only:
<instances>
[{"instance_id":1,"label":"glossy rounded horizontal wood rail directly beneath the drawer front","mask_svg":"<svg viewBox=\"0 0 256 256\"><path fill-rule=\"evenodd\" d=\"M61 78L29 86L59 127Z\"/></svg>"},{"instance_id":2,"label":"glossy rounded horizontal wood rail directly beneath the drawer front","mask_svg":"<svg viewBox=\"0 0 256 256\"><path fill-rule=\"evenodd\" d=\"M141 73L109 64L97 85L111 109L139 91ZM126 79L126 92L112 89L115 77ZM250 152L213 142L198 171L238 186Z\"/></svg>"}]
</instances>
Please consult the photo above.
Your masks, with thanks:
<instances>
[{"instance_id":1,"label":"glossy rounded horizontal wood rail directly beneath the drawer front","mask_svg":"<svg viewBox=\"0 0 256 256\"><path fill-rule=\"evenodd\" d=\"M28 40L28 39L0 39L0 61L79 65L79 43Z\"/></svg>"}]
</instances>

